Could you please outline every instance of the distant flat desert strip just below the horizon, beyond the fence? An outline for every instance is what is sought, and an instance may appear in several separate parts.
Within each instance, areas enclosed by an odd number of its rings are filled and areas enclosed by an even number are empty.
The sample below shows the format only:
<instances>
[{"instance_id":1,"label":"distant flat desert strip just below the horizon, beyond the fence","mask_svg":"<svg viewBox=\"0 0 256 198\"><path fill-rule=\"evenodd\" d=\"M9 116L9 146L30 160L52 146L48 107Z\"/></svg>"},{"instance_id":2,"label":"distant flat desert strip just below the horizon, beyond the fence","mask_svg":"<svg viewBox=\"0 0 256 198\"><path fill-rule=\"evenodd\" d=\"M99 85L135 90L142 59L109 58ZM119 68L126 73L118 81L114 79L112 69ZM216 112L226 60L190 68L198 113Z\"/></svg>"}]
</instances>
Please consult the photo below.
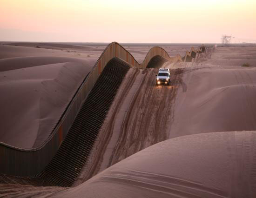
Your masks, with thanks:
<instances>
[{"instance_id":1,"label":"distant flat desert strip just below the horizon, beyond the fence","mask_svg":"<svg viewBox=\"0 0 256 198\"><path fill-rule=\"evenodd\" d=\"M36 48L39 46L40 48ZM161 46L161 45L160 45ZM185 55L186 51L195 45L191 44L179 44L170 46L162 46L164 50L168 52L170 56L176 54ZM94 63L100 57L101 53L106 46L89 46L89 45L67 45L58 43L5 43L0 45L0 59L25 57L25 56L61 56L72 57L79 59L94 59ZM145 59L148 50L153 46L124 46L138 62L142 62ZM79 54L79 55L78 55Z\"/></svg>"}]
</instances>

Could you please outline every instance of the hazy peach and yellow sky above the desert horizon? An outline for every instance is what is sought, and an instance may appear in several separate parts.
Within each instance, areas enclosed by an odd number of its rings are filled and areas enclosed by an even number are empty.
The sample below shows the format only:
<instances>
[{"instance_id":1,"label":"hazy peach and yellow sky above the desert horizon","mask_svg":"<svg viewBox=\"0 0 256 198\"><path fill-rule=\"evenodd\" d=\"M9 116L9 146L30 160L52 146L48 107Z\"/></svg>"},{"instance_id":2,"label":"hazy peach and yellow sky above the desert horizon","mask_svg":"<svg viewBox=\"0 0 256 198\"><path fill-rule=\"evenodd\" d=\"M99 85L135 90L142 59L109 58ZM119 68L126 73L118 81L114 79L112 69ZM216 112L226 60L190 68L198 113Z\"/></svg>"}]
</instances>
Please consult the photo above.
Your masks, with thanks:
<instances>
[{"instance_id":1,"label":"hazy peach and yellow sky above the desert horizon","mask_svg":"<svg viewBox=\"0 0 256 198\"><path fill-rule=\"evenodd\" d=\"M256 40L256 0L0 0L0 40L219 43Z\"/></svg>"}]
</instances>

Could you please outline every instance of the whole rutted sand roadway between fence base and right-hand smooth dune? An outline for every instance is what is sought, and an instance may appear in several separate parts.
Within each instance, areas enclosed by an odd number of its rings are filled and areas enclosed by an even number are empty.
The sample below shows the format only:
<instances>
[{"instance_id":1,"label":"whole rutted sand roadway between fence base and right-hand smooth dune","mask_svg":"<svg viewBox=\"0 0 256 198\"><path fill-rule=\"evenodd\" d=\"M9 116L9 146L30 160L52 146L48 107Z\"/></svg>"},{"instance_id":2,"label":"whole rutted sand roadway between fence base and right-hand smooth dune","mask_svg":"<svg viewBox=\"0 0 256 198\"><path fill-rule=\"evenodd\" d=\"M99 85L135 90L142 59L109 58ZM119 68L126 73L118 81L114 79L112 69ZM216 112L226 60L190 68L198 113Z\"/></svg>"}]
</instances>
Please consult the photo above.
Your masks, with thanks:
<instances>
[{"instance_id":1,"label":"whole rutted sand roadway between fence base and right-hand smooth dune","mask_svg":"<svg viewBox=\"0 0 256 198\"><path fill-rule=\"evenodd\" d=\"M168 138L179 74L171 74L171 86L155 86L156 73L156 68L130 68L101 127L81 180Z\"/></svg>"}]
</instances>

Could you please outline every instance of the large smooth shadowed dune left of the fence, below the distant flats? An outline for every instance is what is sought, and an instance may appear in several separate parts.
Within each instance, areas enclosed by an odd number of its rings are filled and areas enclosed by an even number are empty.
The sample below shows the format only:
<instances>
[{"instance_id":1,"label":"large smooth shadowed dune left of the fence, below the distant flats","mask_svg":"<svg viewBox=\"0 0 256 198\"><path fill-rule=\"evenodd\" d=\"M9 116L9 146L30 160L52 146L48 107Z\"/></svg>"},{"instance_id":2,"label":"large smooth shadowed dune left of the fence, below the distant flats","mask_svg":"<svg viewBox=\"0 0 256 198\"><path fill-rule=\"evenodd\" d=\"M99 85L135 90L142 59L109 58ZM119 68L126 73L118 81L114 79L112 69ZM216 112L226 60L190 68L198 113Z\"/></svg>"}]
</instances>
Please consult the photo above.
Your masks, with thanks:
<instances>
[{"instance_id":1,"label":"large smooth shadowed dune left of the fence, below the distant flats","mask_svg":"<svg viewBox=\"0 0 256 198\"><path fill-rule=\"evenodd\" d=\"M0 68L12 68L0 72L1 142L20 148L40 145L91 69L88 64L65 60L42 65L53 60L60 61L40 57L0 60Z\"/></svg>"}]
</instances>

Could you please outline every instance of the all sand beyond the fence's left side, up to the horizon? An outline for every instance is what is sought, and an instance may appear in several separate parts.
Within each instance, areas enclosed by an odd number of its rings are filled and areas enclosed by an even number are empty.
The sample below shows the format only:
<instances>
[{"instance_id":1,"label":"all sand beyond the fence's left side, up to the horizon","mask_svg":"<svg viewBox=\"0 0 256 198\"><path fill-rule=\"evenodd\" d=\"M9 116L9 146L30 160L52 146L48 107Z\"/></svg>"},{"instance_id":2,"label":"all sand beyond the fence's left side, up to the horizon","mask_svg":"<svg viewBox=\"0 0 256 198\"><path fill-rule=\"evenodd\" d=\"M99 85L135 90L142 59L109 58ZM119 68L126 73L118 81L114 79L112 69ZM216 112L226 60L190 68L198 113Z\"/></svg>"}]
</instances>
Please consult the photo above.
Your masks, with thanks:
<instances>
[{"instance_id":1,"label":"all sand beyond the fence's left side, up to the horizon","mask_svg":"<svg viewBox=\"0 0 256 198\"><path fill-rule=\"evenodd\" d=\"M0 142L18 148L41 145L106 46L33 42L0 45L0 104L5 104L0 112ZM190 47L182 45L178 50L185 54ZM126 48L142 62L150 46ZM177 51L175 46L164 48Z\"/></svg>"}]
</instances>

